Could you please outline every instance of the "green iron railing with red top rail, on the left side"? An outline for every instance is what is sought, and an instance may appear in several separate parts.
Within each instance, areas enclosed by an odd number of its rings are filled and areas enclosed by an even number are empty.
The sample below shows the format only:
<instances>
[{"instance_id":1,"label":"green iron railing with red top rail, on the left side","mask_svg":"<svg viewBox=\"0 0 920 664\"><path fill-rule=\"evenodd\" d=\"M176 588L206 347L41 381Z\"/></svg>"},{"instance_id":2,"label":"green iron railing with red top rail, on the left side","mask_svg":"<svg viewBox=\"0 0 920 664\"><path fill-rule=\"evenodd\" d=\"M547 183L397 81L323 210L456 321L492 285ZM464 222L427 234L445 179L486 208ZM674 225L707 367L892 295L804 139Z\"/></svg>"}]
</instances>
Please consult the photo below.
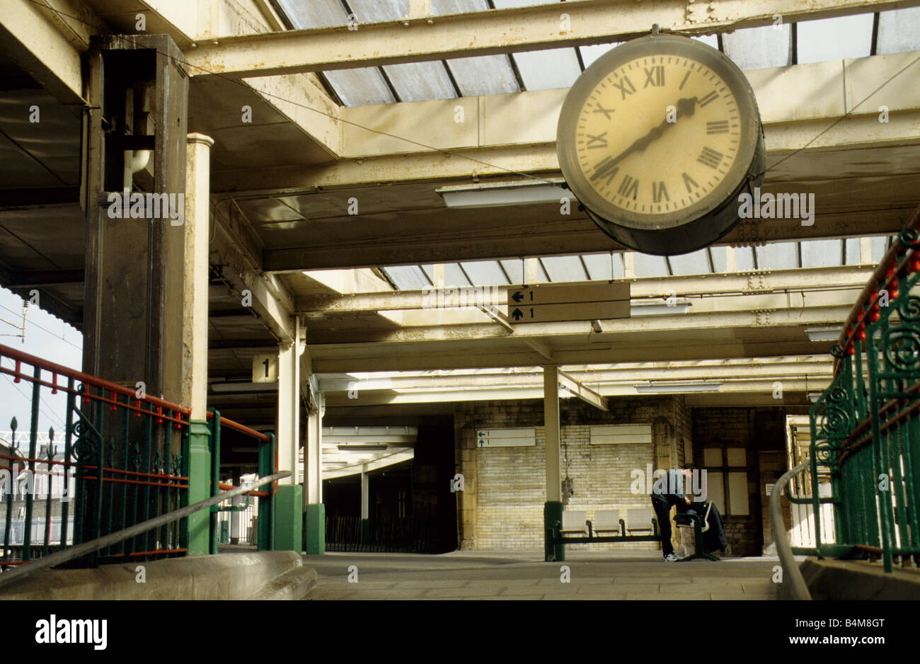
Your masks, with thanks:
<instances>
[{"instance_id":1,"label":"green iron railing with red top rail, on the left side","mask_svg":"<svg viewBox=\"0 0 920 664\"><path fill-rule=\"evenodd\" d=\"M0 364L0 372L31 386L28 432L19 434L13 418L11 440L0 447L0 571L188 506L189 408L3 345L0 359L13 364ZM60 397L48 399L49 393L63 393L63 448L55 444L57 434L51 429L51 444L40 453L40 412L61 412ZM220 431L230 428L259 440L260 476L275 472L273 436L216 413L209 418L214 468L219 469ZM216 496L219 477L210 479L211 495ZM260 520L259 544L270 549L275 487L248 493L259 497L259 509L267 515ZM94 551L78 564L184 555L188 533L187 519L163 521Z\"/></svg>"}]
</instances>

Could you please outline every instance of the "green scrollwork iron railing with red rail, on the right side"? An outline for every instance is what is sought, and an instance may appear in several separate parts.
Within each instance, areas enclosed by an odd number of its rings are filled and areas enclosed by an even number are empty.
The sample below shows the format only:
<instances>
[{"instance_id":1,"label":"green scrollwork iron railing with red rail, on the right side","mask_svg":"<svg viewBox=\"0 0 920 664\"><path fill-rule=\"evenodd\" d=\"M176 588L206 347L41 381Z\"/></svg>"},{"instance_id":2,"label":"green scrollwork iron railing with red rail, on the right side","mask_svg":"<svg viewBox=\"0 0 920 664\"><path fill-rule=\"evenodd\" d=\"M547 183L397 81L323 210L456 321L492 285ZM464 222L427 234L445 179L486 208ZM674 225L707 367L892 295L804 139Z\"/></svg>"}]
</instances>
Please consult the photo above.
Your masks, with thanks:
<instances>
[{"instance_id":1,"label":"green scrollwork iron railing with red rail, on the right side","mask_svg":"<svg viewBox=\"0 0 920 664\"><path fill-rule=\"evenodd\" d=\"M920 213L881 261L847 319L834 380L811 407L815 546L795 553L920 562ZM820 485L829 485L821 491ZM804 493L804 492L803 492ZM822 496L822 493L825 494ZM822 540L822 505L833 541Z\"/></svg>"}]
</instances>

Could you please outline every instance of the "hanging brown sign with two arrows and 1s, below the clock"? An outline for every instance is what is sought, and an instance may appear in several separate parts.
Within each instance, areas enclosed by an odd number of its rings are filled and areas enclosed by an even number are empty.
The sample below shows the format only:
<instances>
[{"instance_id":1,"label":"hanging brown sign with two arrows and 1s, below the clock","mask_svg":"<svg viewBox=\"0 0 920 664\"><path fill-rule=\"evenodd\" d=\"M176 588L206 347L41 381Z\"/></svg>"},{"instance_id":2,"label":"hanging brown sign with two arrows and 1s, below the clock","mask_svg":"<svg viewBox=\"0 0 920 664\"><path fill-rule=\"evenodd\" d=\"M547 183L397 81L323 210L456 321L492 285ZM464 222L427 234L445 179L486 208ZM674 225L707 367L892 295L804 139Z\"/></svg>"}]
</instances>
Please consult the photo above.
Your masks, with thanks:
<instances>
[{"instance_id":1,"label":"hanging brown sign with two arrows and 1s, below the clock","mask_svg":"<svg viewBox=\"0 0 920 664\"><path fill-rule=\"evenodd\" d=\"M629 317L629 283L559 283L508 289L512 323Z\"/></svg>"}]
</instances>

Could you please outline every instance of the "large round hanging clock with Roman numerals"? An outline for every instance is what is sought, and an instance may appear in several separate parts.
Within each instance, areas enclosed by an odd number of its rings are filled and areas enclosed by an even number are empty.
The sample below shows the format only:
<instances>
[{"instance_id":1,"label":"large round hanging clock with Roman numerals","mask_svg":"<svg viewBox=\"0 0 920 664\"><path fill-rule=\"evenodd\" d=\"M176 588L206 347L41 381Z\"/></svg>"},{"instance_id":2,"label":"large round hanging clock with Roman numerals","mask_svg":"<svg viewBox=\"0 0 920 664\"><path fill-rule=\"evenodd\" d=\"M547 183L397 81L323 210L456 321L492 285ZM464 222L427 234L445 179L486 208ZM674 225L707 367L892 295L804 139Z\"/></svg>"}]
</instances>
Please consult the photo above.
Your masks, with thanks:
<instances>
[{"instance_id":1,"label":"large round hanging clock with Roman numerals","mask_svg":"<svg viewBox=\"0 0 920 664\"><path fill-rule=\"evenodd\" d=\"M558 154L604 232L651 254L694 251L727 233L737 191L764 169L741 71L705 44L663 35L630 41L581 75L559 117Z\"/></svg>"}]
</instances>

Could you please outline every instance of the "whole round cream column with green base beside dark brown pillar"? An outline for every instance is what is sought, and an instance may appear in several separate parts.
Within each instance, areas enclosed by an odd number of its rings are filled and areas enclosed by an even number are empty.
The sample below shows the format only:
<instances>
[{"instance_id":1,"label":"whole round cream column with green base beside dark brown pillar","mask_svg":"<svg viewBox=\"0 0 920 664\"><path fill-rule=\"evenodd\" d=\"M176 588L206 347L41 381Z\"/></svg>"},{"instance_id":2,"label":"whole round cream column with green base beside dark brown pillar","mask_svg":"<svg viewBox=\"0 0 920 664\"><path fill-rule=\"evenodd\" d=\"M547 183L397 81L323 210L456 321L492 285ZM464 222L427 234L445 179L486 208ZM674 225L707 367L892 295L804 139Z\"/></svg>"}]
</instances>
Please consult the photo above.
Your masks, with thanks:
<instances>
[{"instance_id":1,"label":"whole round cream column with green base beside dark brown pillar","mask_svg":"<svg viewBox=\"0 0 920 664\"><path fill-rule=\"evenodd\" d=\"M185 280L182 283L181 403L191 407L189 429L189 503L213 496L208 385L208 244L211 220L211 146L213 140L190 133L186 145ZM210 551L212 518L202 509L189 517L189 555Z\"/></svg>"}]
</instances>

